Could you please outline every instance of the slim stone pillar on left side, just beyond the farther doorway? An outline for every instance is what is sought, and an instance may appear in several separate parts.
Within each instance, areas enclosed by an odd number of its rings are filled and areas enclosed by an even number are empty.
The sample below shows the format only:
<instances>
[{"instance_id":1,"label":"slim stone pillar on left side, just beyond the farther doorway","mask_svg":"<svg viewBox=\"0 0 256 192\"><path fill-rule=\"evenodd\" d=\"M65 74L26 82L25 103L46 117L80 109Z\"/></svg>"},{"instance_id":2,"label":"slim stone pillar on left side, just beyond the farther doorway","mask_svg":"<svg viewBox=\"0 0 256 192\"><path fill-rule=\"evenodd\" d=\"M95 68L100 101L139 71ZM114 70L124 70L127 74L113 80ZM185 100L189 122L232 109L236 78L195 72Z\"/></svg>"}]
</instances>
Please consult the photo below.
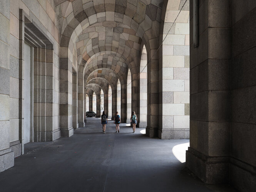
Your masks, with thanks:
<instances>
[{"instance_id":1,"label":"slim stone pillar on left side, just beyond the farther doorway","mask_svg":"<svg viewBox=\"0 0 256 192\"><path fill-rule=\"evenodd\" d=\"M80 69L80 68L79 68ZM77 72L77 121L78 127L84 127L84 78L83 72Z\"/></svg>"}]
</instances>

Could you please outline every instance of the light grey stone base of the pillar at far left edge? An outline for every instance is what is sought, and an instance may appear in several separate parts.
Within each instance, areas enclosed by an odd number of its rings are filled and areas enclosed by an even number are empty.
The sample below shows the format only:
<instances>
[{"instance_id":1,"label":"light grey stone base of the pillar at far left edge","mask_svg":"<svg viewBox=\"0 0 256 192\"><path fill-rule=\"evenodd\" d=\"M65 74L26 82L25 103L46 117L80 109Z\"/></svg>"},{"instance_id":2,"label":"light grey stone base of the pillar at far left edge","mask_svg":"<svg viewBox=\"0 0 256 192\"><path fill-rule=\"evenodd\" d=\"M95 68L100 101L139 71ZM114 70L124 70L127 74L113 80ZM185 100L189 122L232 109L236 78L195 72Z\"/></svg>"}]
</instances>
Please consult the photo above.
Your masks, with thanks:
<instances>
[{"instance_id":1,"label":"light grey stone base of the pillar at far left edge","mask_svg":"<svg viewBox=\"0 0 256 192\"><path fill-rule=\"evenodd\" d=\"M0 151L0 172L14 166L14 152L11 148Z\"/></svg>"}]
</instances>

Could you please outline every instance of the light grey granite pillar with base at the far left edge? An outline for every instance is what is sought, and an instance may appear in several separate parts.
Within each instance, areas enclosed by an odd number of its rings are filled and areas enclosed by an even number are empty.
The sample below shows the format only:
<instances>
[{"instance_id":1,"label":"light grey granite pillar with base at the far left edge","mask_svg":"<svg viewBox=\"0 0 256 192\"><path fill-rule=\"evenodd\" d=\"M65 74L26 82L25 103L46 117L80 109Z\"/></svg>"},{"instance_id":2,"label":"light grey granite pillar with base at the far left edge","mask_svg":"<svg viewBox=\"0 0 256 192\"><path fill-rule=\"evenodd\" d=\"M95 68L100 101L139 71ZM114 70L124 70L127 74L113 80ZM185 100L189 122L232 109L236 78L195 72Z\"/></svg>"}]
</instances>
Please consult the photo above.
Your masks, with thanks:
<instances>
[{"instance_id":1,"label":"light grey granite pillar with base at the far left edge","mask_svg":"<svg viewBox=\"0 0 256 192\"><path fill-rule=\"evenodd\" d=\"M0 172L14 165L10 148L10 2L0 3Z\"/></svg>"}]
</instances>

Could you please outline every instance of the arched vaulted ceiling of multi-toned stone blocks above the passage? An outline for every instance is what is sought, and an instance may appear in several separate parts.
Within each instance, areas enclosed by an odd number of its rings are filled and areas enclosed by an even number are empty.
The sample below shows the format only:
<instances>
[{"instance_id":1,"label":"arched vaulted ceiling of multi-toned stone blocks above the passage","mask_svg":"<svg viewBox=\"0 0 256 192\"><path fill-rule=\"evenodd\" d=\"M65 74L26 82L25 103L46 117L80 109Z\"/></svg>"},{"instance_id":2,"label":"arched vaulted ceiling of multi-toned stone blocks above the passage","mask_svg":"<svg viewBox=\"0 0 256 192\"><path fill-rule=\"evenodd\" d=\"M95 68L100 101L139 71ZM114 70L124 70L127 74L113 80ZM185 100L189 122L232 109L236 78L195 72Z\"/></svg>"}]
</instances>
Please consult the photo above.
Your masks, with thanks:
<instances>
[{"instance_id":1,"label":"arched vaulted ceiling of multi-toned stone blocks above the passage","mask_svg":"<svg viewBox=\"0 0 256 192\"><path fill-rule=\"evenodd\" d=\"M125 83L128 69L138 72L141 43L148 49L158 46L162 0L54 2L60 46L76 48L77 70L88 89L99 88L97 83L116 86L118 79Z\"/></svg>"}]
</instances>

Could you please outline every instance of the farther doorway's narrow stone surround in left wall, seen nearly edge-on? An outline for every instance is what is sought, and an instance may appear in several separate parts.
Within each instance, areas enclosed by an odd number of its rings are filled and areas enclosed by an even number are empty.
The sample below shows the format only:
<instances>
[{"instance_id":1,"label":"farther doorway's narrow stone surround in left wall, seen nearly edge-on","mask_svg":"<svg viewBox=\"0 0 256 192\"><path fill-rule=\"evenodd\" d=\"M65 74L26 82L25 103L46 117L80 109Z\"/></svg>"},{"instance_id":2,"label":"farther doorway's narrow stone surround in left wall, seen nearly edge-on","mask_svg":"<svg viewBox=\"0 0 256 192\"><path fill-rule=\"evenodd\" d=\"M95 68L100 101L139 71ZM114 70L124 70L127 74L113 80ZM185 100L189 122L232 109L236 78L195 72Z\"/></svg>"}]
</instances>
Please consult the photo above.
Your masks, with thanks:
<instances>
[{"instance_id":1,"label":"farther doorway's narrow stone surround in left wall, seen nearly edge-on","mask_svg":"<svg viewBox=\"0 0 256 192\"><path fill-rule=\"evenodd\" d=\"M77 73L72 72L72 126L73 129L78 128L77 122Z\"/></svg>"}]
</instances>

